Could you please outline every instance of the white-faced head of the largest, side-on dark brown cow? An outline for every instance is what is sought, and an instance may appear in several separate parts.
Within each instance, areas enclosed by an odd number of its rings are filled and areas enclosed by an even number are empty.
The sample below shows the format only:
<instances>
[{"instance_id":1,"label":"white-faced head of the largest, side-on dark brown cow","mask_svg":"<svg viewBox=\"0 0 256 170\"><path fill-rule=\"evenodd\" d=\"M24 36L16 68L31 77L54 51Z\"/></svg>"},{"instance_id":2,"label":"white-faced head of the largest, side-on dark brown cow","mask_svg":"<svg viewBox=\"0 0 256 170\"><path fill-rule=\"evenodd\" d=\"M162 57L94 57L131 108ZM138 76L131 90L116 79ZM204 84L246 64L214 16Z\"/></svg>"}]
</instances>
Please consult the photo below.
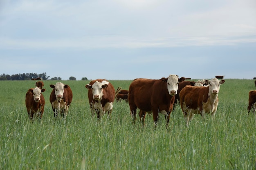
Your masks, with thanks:
<instances>
[{"instance_id":1,"label":"white-faced head of the largest, side-on dark brown cow","mask_svg":"<svg viewBox=\"0 0 256 170\"><path fill-rule=\"evenodd\" d=\"M185 80L185 77L179 78L177 75L171 74L168 78L162 78L162 81L167 83L167 90L171 96L177 94L179 82Z\"/></svg>"}]
</instances>

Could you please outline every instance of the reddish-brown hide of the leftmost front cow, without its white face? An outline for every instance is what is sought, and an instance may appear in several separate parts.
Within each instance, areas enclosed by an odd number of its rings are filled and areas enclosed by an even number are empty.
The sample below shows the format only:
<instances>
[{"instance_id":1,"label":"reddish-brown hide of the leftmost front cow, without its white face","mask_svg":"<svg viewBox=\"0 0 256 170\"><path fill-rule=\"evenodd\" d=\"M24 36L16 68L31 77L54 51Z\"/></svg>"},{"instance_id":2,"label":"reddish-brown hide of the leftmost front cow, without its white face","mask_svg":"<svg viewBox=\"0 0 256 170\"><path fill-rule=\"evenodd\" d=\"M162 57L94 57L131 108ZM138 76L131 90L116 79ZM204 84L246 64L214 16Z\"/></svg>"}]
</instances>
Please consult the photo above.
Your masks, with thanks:
<instances>
[{"instance_id":1,"label":"reddish-brown hide of the leftmost front cow, without its white face","mask_svg":"<svg viewBox=\"0 0 256 170\"><path fill-rule=\"evenodd\" d=\"M41 96L40 96L40 101L35 102L34 97L33 97L33 89L34 88L31 88L27 91L26 99L25 99L27 113L31 120L36 116L35 113L38 110L39 110L39 114L37 116L41 119L43 116L44 107L45 107L45 98L44 98L43 94L41 94ZM45 92L45 89L41 89L41 92Z\"/></svg>"}]
</instances>

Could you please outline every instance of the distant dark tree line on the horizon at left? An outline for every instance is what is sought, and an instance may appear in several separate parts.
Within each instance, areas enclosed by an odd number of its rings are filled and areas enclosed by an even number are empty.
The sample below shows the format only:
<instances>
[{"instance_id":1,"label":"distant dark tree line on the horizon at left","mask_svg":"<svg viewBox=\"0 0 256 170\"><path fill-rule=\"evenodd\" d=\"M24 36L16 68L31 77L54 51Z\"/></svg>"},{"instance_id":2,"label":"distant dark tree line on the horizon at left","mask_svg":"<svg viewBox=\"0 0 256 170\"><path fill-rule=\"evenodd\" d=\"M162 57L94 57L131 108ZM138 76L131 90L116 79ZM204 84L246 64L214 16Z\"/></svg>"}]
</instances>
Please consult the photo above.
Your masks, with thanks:
<instances>
[{"instance_id":1,"label":"distant dark tree line on the horizon at left","mask_svg":"<svg viewBox=\"0 0 256 170\"><path fill-rule=\"evenodd\" d=\"M49 79L50 76L47 76L46 73L36 74L36 73L23 73L23 74L1 74L1 80L32 80L34 78L42 78L43 80L61 80L61 77L53 77ZM71 76L69 80L76 80L75 77ZM88 80L86 77L83 77L82 80Z\"/></svg>"}]
</instances>

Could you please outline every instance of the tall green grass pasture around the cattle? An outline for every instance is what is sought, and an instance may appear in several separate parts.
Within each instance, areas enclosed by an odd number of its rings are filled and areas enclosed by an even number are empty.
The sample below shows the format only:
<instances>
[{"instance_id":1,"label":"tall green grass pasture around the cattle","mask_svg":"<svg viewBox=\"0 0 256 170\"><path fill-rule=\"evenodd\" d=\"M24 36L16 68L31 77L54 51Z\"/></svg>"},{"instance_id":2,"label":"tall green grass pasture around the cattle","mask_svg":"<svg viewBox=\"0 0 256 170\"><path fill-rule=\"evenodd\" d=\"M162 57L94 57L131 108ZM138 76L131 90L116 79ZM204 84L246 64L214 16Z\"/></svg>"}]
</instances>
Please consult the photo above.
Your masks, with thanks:
<instances>
[{"instance_id":1,"label":"tall green grass pasture around the cattle","mask_svg":"<svg viewBox=\"0 0 256 170\"><path fill-rule=\"evenodd\" d=\"M159 77L161 78L161 77ZM111 81L128 89L131 81ZM197 81L197 80L195 80ZM54 119L46 89L42 120L31 122L25 94L36 81L0 81L0 169L255 169L256 118L247 114L248 93L254 80L225 79L220 86L215 118L195 115L189 128L180 109L171 113L168 130L164 115L154 128L146 115L132 125L129 104L114 102L111 119L97 121L88 103L89 81L61 81L71 87L73 100L67 119Z\"/></svg>"}]
</instances>

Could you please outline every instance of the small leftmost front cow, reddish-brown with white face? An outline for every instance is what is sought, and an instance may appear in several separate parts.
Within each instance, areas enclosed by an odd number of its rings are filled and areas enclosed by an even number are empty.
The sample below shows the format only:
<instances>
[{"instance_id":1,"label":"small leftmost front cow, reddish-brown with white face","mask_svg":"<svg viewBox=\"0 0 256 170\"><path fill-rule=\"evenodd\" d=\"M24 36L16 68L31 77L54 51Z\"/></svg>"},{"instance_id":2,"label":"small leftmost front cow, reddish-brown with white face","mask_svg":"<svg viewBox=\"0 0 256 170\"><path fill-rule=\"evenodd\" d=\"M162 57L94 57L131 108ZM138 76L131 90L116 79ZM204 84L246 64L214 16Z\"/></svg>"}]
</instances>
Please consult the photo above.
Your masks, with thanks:
<instances>
[{"instance_id":1,"label":"small leftmost front cow, reddish-brown with white face","mask_svg":"<svg viewBox=\"0 0 256 170\"><path fill-rule=\"evenodd\" d=\"M36 116L40 119L44 113L45 98L42 94L45 89L40 89L38 87L31 88L26 94L26 107L29 118L33 120Z\"/></svg>"}]
</instances>

